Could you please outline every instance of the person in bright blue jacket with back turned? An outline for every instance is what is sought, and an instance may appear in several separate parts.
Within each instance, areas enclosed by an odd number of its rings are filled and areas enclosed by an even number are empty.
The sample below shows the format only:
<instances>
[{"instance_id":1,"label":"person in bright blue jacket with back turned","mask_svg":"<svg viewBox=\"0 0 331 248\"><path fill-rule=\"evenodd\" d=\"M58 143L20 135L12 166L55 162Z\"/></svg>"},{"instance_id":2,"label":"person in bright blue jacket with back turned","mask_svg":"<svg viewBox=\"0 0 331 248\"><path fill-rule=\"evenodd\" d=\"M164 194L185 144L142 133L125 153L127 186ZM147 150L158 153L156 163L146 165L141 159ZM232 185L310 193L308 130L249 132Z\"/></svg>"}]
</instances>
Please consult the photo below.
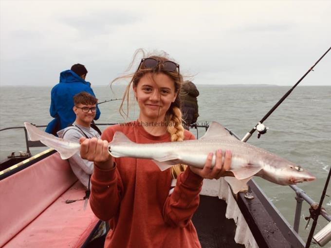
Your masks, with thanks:
<instances>
[{"instance_id":1,"label":"person in bright blue jacket with back turned","mask_svg":"<svg viewBox=\"0 0 331 248\"><path fill-rule=\"evenodd\" d=\"M53 119L46 127L46 132L56 135L56 132L66 128L76 119L74 113L74 95L82 91L86 91L91 95L94 92L91 88L91 83L85 81L87 70L81 64L75 64L71 70L62 71L60 73L60 82L55 85L51 92L51 107L50 114ZM94 120L100 117L100 110L97 106Z\"/></svg>"}]
</instances>

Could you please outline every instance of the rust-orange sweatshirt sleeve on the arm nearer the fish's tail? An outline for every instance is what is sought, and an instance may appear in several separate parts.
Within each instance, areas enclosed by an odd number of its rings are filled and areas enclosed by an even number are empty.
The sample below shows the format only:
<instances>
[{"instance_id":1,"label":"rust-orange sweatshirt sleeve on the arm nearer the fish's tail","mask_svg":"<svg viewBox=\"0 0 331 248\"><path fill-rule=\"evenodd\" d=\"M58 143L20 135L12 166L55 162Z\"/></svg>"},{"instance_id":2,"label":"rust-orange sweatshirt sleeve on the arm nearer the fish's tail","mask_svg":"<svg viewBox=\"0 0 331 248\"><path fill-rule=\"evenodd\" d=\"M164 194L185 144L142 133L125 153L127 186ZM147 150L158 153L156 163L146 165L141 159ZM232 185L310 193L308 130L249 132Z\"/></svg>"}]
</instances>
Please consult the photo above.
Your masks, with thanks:
<instances>
[{"instance_id":1,"label":"rust-orange sweatshirt sleeve on the arm nearer the fish's tail","mask_svg":"<svg viewBox=\"0 0 331 248\"><path fill-rule=\"evenodd\" d=\"M102 133L101 139L110 141L108 130ZM122 199L123 183L116 165L110 170L101 170L94 164L91 177L90 205L93 213L99 219L108 221L119 210Z\"/></svg>"}]
</instances>

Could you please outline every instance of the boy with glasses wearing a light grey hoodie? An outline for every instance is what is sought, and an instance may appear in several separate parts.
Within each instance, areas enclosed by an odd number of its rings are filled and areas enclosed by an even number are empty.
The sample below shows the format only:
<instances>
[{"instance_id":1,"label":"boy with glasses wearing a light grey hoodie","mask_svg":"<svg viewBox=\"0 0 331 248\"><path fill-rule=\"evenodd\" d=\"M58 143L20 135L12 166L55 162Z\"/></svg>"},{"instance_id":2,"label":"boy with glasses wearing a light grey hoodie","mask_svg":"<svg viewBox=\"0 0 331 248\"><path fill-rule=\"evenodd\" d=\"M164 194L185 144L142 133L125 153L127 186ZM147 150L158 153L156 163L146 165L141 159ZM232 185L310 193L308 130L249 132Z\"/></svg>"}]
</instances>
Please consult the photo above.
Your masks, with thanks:
<instances>
[{"instance_id":1,"label":"boy with glasses wearing a light grey hoodie","mask_svg":"<svg viewBox=\"0 0 331 248\"><path fill-rule=\"evenodd\" d=\"M97 102L98 99L85 91L74 95L73 110L76 119L72 126L58 131L58 137L74 142L79 142L81 137L95 137L100 139L101 132L91 126L96 115ZM82 159L79 153L76 153L71 157L69 162L76 177L87 189L89 189L90 176L93 172L93 162Z\"/></svg>"}]
</instances>

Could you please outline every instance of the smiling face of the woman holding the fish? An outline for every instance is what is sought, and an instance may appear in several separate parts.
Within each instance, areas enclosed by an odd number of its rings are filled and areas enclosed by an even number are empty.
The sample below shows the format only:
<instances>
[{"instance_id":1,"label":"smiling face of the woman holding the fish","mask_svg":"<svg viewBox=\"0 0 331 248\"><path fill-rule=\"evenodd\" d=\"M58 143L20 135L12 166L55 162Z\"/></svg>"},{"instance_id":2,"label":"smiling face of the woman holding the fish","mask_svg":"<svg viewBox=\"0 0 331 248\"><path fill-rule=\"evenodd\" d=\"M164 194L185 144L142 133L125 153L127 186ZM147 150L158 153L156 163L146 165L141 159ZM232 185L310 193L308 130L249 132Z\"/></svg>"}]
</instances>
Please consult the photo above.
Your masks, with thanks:
<instances>
[{"instance_id":1,"label":"smiling face of the woman holding the fish","mask_svg":"<svg viewBox=\"0 0 331 248\"><path fill-rule=\"evenodd\" d=\"M140 119L163 121L177 96L175 82L164 73L144 75L133 90L140 108Z\"/></svg>"}]
</instances>

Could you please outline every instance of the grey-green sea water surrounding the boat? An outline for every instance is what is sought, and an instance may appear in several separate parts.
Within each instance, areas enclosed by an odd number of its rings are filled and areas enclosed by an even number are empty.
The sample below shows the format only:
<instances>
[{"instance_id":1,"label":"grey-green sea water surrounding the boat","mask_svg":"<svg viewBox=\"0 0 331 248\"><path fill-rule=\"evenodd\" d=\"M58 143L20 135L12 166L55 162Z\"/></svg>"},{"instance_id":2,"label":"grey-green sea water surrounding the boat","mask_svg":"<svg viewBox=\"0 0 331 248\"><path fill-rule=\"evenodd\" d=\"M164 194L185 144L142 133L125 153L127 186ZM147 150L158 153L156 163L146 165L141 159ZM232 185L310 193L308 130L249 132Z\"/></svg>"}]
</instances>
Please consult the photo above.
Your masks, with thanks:
<instances>
[{"instance_id":1,"label":"grey-green sea water surrounding the boat","mask_svg":"<svg viewBox=\"0 0 331 248\"><path fill-rule=\"evenodd\" d=\"M216 121L234 131L239 137L249 132L276 102L291 88L290 86L206 86L198 85L200 96L199 124ZM123 86L95 86L94 93L99 102L121 98ZM51 87L0 87L0 129L23 126L23 122L45 125L52 118L49 115ZM131 98L133 99L133 98ZM121 101L99 105L101 117L96 123L124 122L119 114ZM138 106L131 102L129 120L135 120ZM313 182L297 186L319 202L331 166L331 86L298 86L290 96L264 122L269 127L266 134L257 139L257 133L249 143L288 159L316 176ZM104 129L105 126L100 126ZM197 131L191 129L197 136ZM200 128L201 137L204 129ZM32 148L32 154L45 148ZM26 151L22 129L0 132L0 160L12 151ZM295 204L294 191L255 177L256 182L273 202L276 208L293 225ZM327 195L331 195L331 190ZM324 207L331 214L331 198L326 196ZM303 202L302 217L309 216L309 205ZM301 218L299 234L306 241L313 221L308 225ZM316 230L327 221L320 216ZM316 231L315 231L316 232Z\"/></svg>"}]
</instances>

